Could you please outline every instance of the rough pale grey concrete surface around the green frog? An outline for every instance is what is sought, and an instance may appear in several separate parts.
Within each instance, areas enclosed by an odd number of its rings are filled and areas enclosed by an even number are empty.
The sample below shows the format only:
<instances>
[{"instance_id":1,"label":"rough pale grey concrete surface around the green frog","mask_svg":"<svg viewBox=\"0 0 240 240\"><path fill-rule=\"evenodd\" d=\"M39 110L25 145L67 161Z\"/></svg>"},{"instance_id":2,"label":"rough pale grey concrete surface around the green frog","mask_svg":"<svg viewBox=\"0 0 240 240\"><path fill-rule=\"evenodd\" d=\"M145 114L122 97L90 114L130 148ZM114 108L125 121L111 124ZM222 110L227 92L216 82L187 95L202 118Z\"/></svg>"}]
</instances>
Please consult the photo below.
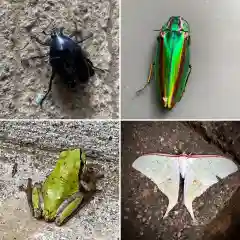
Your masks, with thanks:
<instances>
[{"instance_id":1,"label":"rough pale grey concrete surface around the green frog","mask_svg":"<svg viewBox=\"0 0 240 240\"><path fill-rule=\"evenodd\" d=\"M34 219L18 187L46 178L65 148L83 147L105 177L94 196L66 225ZM12 177L13 166L17 172ZM1 122L0 239L119 239L119 123Z\"/></svg>"}]
</instances>

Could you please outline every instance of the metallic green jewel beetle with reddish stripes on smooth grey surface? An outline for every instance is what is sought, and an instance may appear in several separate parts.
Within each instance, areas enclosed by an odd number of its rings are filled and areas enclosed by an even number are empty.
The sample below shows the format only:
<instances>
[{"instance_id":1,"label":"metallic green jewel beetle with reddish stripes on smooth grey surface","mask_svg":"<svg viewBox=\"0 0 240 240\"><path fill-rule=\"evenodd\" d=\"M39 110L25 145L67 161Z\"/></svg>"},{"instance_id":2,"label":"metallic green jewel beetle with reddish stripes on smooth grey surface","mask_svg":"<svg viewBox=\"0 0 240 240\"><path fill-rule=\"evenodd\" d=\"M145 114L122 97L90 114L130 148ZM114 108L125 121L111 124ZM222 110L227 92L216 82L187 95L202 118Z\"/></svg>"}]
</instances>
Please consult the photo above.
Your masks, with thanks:
<instances>
[{"instance_id":1,"label":"metallic green jewel beetle with reddish stripes on smooth grey surface","mask_svg":"<svg viewBox=\"0 0 240 240\"><path fill-rule=\"evenodd\" d=\"M171 110L183 96L191 69L190 26L183 17L172 16L159 31L147 83L137 94L154 76L158 101L163 108Z\"/></svg>"}]
</instances>

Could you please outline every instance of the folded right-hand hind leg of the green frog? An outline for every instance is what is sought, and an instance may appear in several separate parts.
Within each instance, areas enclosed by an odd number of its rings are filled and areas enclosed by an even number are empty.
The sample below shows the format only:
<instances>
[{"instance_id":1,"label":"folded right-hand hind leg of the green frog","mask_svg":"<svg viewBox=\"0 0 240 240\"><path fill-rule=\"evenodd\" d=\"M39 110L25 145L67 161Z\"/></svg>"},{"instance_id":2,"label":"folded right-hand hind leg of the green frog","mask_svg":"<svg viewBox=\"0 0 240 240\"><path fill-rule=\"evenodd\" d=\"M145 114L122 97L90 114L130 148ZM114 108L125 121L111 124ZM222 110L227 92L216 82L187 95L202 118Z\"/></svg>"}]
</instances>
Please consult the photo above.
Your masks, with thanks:
<instances>
[{"instance_id":1,"label":"folded right-hand hind leg of the green frog","mask_svg":"<svg viewBox=\"0 0 240 240\"><path fill-rule=\"evenodd\" d=\"M58 208L55 223L61 226L66 223L80 208L86 205L83 203L85 195L81 192L73 194L70 198L66 199Z\"/></svg>"}]
</instances>

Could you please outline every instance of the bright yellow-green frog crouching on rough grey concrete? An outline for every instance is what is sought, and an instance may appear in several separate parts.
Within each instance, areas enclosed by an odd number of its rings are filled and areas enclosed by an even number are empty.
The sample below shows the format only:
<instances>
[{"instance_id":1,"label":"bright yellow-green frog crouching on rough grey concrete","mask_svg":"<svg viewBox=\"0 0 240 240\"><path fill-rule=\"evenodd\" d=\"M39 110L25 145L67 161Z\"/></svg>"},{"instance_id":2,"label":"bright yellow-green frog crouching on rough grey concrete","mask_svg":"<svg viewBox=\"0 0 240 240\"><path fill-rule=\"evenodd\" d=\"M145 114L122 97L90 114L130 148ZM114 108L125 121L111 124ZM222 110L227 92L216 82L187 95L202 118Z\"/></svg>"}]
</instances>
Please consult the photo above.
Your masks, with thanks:
<instances>
[{"instance_id":1,"label":"bright yellow-green frog crouching on rough grey concrete","mask_svg":"<svg viewBox=\"0 0 240 240\"><path fill-rule=\"evenodd\" d=\"M92 198L96 189L97 175L90 164L86 164L86 155L82 149L67 150L60 153L56 166L46 180L35 183L28 179L23 189L28 198L32 215L55 221L60 226Z\"/></svg>"}]
</instances>

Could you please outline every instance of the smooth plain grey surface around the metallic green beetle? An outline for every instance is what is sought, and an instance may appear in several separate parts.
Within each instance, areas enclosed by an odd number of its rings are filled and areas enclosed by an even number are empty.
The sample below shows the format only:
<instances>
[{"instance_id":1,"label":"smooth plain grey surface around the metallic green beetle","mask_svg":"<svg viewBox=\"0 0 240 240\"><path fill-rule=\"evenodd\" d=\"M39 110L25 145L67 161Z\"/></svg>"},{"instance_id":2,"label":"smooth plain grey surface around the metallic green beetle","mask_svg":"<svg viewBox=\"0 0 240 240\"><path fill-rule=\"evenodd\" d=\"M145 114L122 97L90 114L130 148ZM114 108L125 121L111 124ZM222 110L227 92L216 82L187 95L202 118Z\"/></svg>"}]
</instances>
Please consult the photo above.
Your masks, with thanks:
<instances>
[{"instance_id":1,"label":"smooth plain grey surface around the metallic green beetle","mask_svg":"<svg viewBox=\"0 0 240 240\"><path fill-rule=\"evenodd\" d=\"M122 0L121 111L124 119L239 119L238 0ZM183 16L191 28L192 72L182 100L163 112L147 80L157 32L170 16Z\"/></svg>"}]
</instances>

